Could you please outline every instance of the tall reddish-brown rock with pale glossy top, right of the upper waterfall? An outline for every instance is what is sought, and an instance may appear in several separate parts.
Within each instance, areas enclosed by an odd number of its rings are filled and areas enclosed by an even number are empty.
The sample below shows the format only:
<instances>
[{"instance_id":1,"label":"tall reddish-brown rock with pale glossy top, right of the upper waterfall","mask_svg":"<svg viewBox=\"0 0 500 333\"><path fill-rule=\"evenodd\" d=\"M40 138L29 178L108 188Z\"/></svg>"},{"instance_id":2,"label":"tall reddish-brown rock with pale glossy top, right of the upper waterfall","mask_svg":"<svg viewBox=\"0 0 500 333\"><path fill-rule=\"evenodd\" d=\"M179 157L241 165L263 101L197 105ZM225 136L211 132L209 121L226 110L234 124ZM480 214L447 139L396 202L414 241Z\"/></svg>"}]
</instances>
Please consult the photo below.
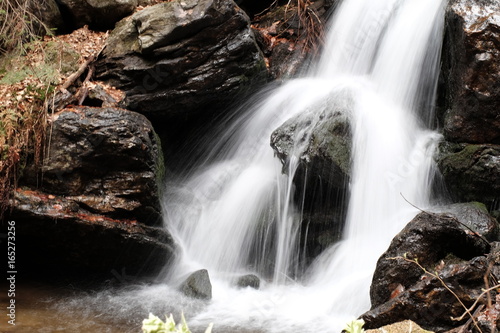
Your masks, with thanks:
<instances>
[{"instance_id":1,"label":"tall reddish-brown rock with pale glossy top, right of the upper waterfall","mask_svg":"<svg viewBox=\"0 0 500 333\"><path fill-rule=\"evenodd\" d=\"M500 143L500 2L453 0L441 95L448 141Z\"/></svg>"}]
</instances>

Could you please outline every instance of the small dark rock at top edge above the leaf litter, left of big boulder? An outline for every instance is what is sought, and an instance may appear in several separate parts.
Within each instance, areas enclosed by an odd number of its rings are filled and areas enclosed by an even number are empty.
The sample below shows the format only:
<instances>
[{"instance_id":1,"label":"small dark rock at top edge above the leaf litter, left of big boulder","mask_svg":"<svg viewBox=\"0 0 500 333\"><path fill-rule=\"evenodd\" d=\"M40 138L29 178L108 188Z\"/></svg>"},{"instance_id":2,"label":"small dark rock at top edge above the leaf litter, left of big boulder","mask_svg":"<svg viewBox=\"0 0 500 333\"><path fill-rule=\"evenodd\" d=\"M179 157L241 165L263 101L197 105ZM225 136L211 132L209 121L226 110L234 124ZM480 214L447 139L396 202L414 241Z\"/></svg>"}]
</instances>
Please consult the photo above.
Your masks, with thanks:
<instances>
[{"instance_id":1,"label":"small dark rock at top edge above the leaf litter, left of big boulder","mask_svg":"<svg viewBox=\"0 0 500 333\"><path fill-rule=\"evenodd\" d=\"M88 25L92 29L112 29L116 22L130 15L138 0L58 0L73 28Z\"/></svg>"}]
</instances>

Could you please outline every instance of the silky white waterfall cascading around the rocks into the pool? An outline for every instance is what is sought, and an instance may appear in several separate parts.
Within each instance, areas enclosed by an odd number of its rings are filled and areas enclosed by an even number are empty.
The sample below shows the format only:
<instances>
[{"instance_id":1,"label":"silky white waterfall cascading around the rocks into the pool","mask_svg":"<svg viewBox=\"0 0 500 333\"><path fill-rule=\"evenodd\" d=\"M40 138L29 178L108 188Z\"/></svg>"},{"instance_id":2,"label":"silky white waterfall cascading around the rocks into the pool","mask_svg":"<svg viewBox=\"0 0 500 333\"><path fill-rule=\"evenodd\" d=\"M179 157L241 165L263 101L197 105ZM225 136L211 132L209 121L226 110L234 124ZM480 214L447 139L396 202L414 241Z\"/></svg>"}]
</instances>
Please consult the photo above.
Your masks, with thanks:
<instances>
[{"instance_id":1,"label":"silky white waterfall cascading around the rocks into the pool","mask_svg":"<svg viewBox=\"0 0 500 333\"><path fill-rule=\"evenodd\" d=\"M339 332L368 310L377 259L415 216L414 206L431 204L439 135L428 126L445 3L344 0L317 66L240 110L207 158L168 184L166 226L182 253L162 283L80 297L59 309L90 306L114 320L183 311L195 331L213 322L216 332ZM353 132L347 221L342 240L303 271L301 209L288 175L314 120L332 103L347 112ZM313 121L297 129L301 140L283 174L271 133L306 113ZM213 284L209 302L176 291L201 268ZM260 290L233 286L245 273L262 277Z\"/></svg>"}]
</instances>

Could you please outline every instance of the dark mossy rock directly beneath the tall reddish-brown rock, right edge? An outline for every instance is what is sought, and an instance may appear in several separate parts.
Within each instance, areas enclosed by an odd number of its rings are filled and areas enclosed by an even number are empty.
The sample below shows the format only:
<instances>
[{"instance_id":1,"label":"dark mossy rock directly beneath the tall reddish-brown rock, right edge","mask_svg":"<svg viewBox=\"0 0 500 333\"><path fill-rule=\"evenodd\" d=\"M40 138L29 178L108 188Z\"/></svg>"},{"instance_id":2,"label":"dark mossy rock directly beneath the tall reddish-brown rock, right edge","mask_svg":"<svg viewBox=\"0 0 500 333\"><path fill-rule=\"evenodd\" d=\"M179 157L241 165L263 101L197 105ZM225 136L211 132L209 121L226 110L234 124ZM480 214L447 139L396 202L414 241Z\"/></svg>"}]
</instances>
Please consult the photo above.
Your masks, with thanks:
<instances>
[{"instance_id":1,"label":"dark mossy rock directly beneath the tall reddish-brown rock, right edge","mask_svg":"<svg viewBox=\"0 0 500 333\"><path fill-rule=\"evenodd\" d=\"M437 162L456 201L479 201L489 207L500 200L500 146L440 144Z\"/></svg>"}]
</instances>

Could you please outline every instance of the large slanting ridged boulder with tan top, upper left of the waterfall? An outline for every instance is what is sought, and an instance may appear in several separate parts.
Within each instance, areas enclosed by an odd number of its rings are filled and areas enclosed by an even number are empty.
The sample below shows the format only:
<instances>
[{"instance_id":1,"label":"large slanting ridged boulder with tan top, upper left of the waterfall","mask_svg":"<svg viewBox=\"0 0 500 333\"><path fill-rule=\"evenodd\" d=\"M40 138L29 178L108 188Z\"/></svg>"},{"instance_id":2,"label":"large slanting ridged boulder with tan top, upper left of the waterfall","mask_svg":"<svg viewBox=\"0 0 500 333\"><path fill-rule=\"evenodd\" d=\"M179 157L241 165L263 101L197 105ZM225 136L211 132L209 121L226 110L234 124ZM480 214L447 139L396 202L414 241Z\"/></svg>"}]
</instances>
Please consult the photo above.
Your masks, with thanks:
<instances>
[{"instance_id":1,"label":"large slanting ridged boulder with tan top, upper left of the waterfall","mask_svg":"<svg viewBox=\"0 0 500 333\"><path fill-rule=\"evenodd\" d=\"M211 119L267 79L249 18L230 0L175 0L122 20L96 73L126 92L128 109L183 121Z\"/></svg>"}]
</instances>

